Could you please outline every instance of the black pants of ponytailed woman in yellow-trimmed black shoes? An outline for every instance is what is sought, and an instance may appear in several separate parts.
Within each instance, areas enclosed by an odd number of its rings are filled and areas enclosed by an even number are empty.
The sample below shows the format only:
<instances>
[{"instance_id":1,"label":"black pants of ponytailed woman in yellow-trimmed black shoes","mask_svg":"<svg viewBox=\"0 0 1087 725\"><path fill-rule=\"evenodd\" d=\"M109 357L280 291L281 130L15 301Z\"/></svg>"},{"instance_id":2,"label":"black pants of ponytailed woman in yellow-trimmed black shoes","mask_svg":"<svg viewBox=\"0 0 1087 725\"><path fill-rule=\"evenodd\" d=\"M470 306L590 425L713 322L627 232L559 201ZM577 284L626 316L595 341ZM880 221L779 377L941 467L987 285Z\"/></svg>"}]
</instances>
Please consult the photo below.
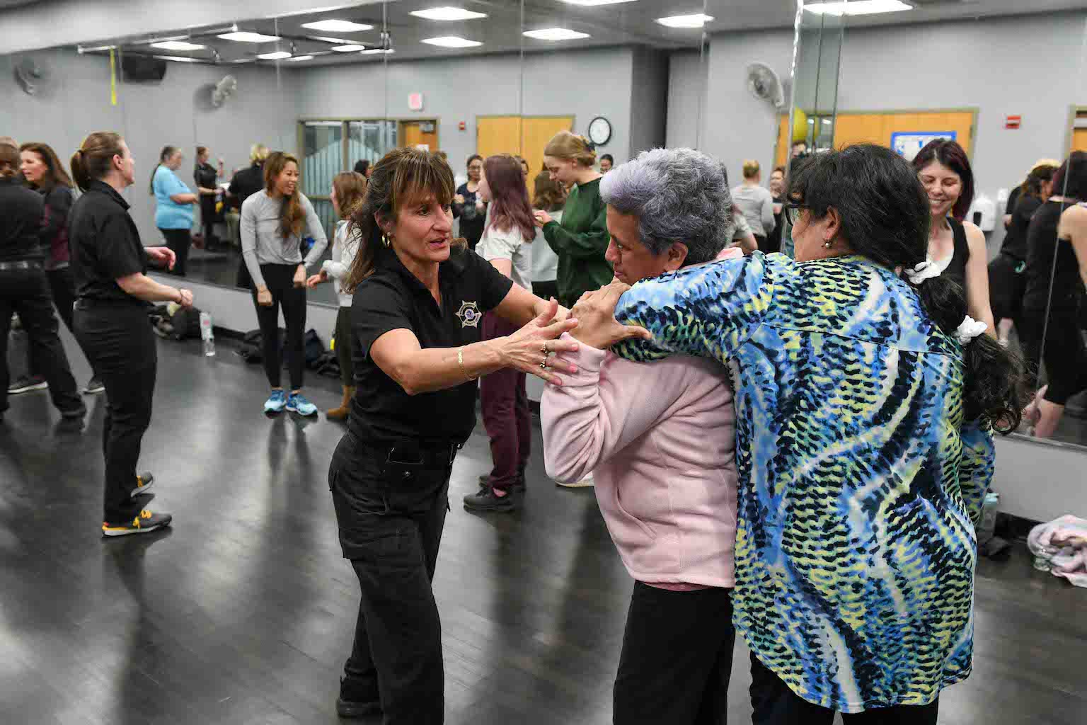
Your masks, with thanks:
<instances>
[{"instance_id":1,"label":"black pants of ponytailed woman in yellow-trimmed black shoes","mask_svg":"<svg viewBox=\"0 0 1087 725\"><path fill-rule=\"evenodd\" d=\"M158 347L147 309L129 303L79 302L75 330L105 386L102 455L105 458L103 521L122 524L139 513L136 488L140 442L151 423Z\"/></svg>"}]
</instances>

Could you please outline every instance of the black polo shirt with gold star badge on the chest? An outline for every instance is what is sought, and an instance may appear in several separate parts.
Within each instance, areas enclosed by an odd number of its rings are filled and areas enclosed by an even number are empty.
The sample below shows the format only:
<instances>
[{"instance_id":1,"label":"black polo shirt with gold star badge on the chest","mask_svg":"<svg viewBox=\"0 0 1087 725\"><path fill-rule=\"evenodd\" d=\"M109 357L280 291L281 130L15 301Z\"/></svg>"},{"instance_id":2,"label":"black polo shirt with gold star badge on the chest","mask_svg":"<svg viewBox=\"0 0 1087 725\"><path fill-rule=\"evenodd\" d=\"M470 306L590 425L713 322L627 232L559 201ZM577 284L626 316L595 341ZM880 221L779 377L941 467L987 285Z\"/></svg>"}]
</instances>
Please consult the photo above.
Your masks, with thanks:
<instances>
[{"instance_id":1,"label":"black polo shirt with gold star badge on the chest","mask_svg":"<svg viewBox=\"0 0 1087 725\"><path fill-rule=\"evenodd\" d=\"M424 348L459 348L479 341L480 320L505 298L513 280L467 249L453 249L438 266L441 308L391 250L382 249L375 271L359 285L351 305L351 357L358 392L350 430L362 442L460 443L475 427L475 380L409 396L370 357L377 338L410 329Z\"/></svg>"}]
</instances>

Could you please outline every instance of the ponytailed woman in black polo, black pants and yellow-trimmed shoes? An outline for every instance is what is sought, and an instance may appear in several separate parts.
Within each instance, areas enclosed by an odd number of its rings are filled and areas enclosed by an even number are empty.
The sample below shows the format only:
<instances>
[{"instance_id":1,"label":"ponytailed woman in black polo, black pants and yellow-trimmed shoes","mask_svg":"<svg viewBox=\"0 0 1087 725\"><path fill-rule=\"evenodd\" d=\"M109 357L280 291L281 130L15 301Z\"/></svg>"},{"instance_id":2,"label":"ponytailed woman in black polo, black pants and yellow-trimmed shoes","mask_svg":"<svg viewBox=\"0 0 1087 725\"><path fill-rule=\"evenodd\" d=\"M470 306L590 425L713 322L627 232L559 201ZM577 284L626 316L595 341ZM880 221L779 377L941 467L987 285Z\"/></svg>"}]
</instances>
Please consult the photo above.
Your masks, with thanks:
<instances>
[{"instance_id":1,"label":"ponytailed woman in black polo, black pants and yellow-trimmed shoes","mask_svg":"<svg viewBox=\"0 0 1087 725\"><path fill-rule=\"evenodd\" d=\"M173 267L174 252L143 247L121 196L136 180L132 153L117 134L88 136L72 157L84 195L72 207L68 239L75 276L75 334L105 385L103 536L146 534L171 521L143 508L154 478L136 474L140 441L151 422L158 366L148 302L192 304L192 292L147 276L148 260Z\"/></svg>"}]
</instances>

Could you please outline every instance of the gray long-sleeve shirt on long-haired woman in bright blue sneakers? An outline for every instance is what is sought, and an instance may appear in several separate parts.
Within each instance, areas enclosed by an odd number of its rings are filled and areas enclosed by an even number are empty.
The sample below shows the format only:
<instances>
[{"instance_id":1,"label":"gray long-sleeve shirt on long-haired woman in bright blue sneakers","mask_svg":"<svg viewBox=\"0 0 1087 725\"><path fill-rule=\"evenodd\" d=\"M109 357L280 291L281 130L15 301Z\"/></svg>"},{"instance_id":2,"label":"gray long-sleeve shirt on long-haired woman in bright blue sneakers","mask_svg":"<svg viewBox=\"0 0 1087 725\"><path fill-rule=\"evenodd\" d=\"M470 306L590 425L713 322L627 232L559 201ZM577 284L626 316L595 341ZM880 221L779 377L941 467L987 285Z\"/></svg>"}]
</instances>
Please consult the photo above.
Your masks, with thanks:
<instances>
[{"instance_id":1,"label":"gray long-sleeve shirt on long-haired woman in bright blue sneakers","mask_svg":"<svg viewBox=\"0 0 1087 725\"><path fill-rule=\"evenodd\" d=\"M305 255L304 264L307 268L316 264L321 259L321 253L328 246L328 238L325 237L324 227L321 226L321 218L313 211L313 204L303 195L298 195L305 210L305 230L313 237L313 248ZM250 196L241 204L241 255L249 267L249 276L253 278L253 286L260 287L264 284L264 275L261 274L262 264L302 264L302 252L299 246L302 242L301 235L284 237L279 230L279 212L283 208L283 199L273 199L267 191L261 189Z\"/></svg>"}]
</instances>

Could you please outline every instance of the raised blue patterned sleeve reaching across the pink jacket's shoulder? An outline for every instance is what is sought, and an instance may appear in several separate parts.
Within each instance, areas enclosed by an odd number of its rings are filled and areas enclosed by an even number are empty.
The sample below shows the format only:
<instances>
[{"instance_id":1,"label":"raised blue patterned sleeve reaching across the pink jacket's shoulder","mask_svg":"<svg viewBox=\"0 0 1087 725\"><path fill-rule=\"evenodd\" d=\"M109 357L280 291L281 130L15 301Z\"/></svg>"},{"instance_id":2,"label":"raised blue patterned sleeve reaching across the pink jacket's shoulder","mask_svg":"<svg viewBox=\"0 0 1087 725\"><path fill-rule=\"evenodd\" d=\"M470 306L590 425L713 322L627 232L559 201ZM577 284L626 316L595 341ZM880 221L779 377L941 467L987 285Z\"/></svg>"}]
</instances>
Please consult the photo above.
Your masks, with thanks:
<instances>
[{"instance_id":1,"label":"raised blue patterned sleeve reaching across the pink jacket's shoulder","mask_svg":"<svg viewBox=\"0 0 1087 725\"><path fill-rule=\"evenodd\" d=\"M641 325L653 339L625 340L612 352L636 362L676 353L733 357L770 308L773 267L757 252L638 283L620 299L615 318Z\"/></svg>"}]
</instances>

